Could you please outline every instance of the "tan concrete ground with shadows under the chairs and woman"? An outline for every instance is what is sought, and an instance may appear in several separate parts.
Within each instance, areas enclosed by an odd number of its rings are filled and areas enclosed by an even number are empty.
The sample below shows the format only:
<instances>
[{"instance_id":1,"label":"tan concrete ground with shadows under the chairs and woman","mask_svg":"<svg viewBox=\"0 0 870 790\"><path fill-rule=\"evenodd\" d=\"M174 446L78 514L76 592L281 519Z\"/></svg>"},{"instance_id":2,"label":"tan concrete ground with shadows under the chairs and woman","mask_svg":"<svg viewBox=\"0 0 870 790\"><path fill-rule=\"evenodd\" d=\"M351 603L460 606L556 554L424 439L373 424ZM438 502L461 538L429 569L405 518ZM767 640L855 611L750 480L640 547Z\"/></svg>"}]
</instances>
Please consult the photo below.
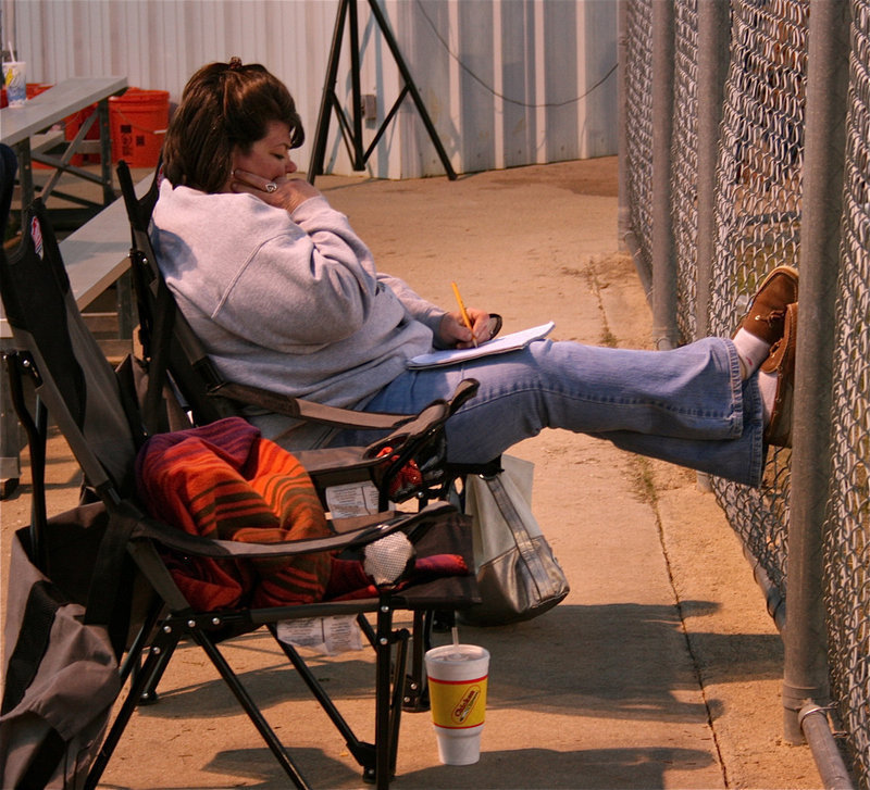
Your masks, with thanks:
<instances>
[{"instance_id":1,"label":"tan concrete ground with shadows under the chairs and woman","mask_svg":"<svg viewBox=\"0 0 870 790\"><path fill-rule=\"evenodd\" d=\"M633 263L618 251L617 161L469 175L457 181L323 177L381 269L452 304L500 312L505 330L650 348ZM52 441L52 512L77 473ZM481 761L438 763L427 713L402 718L394 787L818 788L809 749L782 737L782 644L713 496L694 473L587 437L548 431L514 448L536 465L534 510L572 591L546 615L461 627L492 654ZM27 523L29 482L2 503ZM5 574L4 574L5 576ZM309 781L362 787L339 735L268 636L227 647ZM371 737L370 651L313 659L315 674ZM162 699L140 709L105 788L283 788L286 778L206 657L178 650Z\"/></svg>"}]
</instances>

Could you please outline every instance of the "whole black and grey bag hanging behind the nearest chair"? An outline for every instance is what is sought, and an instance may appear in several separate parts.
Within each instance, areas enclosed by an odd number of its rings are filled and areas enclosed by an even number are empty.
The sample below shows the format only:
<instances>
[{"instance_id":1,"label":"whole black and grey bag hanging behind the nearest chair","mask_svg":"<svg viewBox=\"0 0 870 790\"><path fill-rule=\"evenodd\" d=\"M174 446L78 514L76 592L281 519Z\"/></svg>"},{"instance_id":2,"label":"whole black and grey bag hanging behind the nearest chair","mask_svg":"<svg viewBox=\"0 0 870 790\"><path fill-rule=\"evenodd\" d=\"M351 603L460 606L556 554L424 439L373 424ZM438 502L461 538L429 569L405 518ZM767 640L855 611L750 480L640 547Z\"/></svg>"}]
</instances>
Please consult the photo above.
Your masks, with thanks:
<instances>
[{"instance_id":1,"label":"whole black and grey bag hanging behind the nearest chair","mask_svg":"<svg viewBox=\"0 0 870 790\"><path fill-rule=\"evenodd\" d=\"M121 691L117 659L132 575L125 530L110 530L120 535L105 539L107 523L101 503L49 519L40 540L55 579L34 563L30 530L14 536L3 634L2 788L80 788L102 742Z\"/></svg>"}]
</instances>

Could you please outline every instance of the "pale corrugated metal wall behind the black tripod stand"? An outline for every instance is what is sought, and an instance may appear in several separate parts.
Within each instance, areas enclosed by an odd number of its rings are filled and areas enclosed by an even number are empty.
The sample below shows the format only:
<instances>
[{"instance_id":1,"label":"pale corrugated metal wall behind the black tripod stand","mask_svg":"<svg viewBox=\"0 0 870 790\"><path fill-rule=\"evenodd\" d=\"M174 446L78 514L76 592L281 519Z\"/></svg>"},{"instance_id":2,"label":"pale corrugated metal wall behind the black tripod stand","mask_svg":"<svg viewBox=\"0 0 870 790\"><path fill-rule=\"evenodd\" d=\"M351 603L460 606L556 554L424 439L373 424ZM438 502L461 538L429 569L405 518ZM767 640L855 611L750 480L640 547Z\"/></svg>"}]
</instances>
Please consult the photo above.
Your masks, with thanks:
<instances>
[{"instance_id":1,"label":"pale corrugated metal wall behind the black tripod stand","mask_svg":"<svg viewBox=\"0 0 870 790\"><path fill-rule=\"evenodd\" d=\"M380 2L457 172L616 153L613 0ZM358 3L362 90L383 117L401 81L366 0ZM259 61L287 83L311 139L337 9L337 0L2 0L3 43L14 41L28 81L119 74L173 101L206 62ZM346 40L339 97L350 96L347 52ZM326 170L350 173L334 120L331 129ZM365 125L369 140L375 129ZM302 168L309 156L307 143ZM369 172L444 172L409 98Z\"/></svg>"}]
</instances>

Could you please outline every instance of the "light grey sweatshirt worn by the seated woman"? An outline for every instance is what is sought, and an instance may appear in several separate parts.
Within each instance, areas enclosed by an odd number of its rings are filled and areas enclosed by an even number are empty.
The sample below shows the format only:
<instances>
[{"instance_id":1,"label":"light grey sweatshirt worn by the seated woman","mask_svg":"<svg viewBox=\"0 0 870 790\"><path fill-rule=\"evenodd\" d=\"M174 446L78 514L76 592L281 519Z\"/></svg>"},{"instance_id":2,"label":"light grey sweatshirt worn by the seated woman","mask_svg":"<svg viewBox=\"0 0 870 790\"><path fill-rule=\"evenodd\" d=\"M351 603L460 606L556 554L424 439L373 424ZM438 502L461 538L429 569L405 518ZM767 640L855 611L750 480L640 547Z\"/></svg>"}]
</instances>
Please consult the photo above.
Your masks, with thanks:
<instances>
[{"instance_id":1,"label":"light grey sweatshirt worn by the seated woman","mask_svg":"<svg viewBox=\"0 0 870 790\"><path fill-rule=\"evenodd\" d=\"M163 181L158 263L228 379L338 406L363 405L432 349L445 311L375 271L323 197L288 214L250 195Z\"/></svg>"}]
</instances>

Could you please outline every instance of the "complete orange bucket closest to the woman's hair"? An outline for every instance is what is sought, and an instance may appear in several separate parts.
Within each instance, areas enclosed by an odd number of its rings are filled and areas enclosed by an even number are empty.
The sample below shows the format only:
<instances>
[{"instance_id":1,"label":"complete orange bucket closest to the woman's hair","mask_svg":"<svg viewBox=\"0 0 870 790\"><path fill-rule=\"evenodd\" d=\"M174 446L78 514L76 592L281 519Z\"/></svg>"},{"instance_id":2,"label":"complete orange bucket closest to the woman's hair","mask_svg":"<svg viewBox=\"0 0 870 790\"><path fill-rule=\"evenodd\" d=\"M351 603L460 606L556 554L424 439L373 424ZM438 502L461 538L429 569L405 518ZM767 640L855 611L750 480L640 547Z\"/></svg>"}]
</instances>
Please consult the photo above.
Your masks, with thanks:
<instances>
[{"instance_id":1,"label":"complete orange bucket closest to the woman's hair","mask_svg":"<svg viewBox=\"0 0 870 790\"><path fill-rule=\"evenodd\" d=\"M130 167L154 167L169 123L166 90L129 88L123 96L110 98L112 161L123 159Z\"/></svg>"}]
</instances>

